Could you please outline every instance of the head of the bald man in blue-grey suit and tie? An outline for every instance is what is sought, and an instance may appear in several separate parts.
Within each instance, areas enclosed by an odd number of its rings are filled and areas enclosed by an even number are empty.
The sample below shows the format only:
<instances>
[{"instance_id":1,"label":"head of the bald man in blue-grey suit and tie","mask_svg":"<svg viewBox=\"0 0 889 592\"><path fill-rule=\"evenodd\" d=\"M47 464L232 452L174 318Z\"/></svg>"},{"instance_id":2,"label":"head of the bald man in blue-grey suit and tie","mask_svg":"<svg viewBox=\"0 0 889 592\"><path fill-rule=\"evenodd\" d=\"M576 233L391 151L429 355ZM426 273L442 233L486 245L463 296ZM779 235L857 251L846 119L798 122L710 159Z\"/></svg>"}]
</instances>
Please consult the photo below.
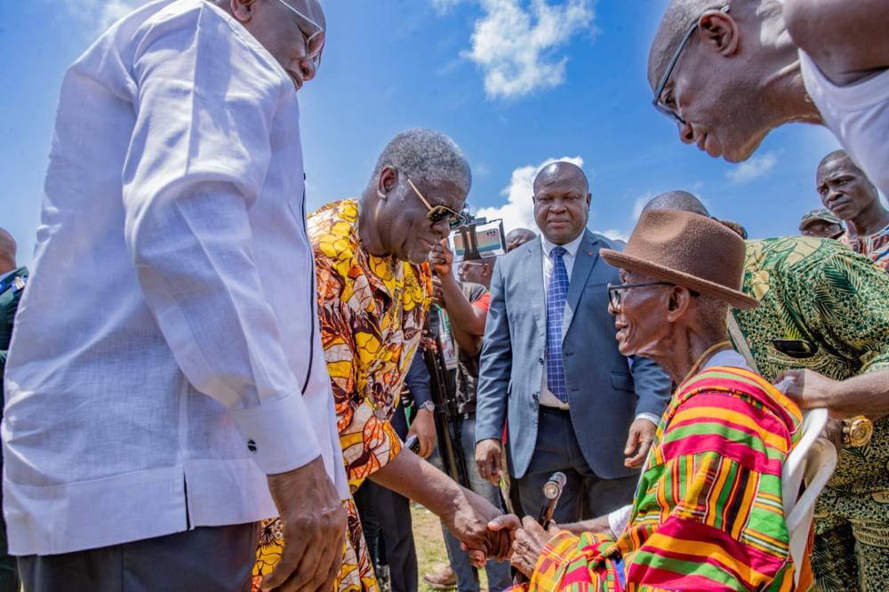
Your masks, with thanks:
<instances>
[{"instance_id":1,"label":"head of the bald man in blue-grey suit and tie","mask_svg":"<svg viewBox=\"0 0 889 592\"><path fill-rule=\"evenodd\" d=\"M590 198L587 176L579 166L549 164L534 180L537 228L553 244L572 242L587 227Z\"/></svg>"}]
</instances>

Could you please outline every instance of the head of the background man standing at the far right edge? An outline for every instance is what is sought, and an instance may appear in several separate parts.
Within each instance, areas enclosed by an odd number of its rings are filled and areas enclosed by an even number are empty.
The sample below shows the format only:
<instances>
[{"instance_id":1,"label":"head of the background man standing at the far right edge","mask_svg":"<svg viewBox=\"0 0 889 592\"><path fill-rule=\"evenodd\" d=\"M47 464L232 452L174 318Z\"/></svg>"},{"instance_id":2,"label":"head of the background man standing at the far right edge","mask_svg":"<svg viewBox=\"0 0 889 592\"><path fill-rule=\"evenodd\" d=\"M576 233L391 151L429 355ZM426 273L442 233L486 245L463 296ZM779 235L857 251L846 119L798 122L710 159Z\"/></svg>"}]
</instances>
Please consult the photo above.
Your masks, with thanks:
<instances>
[{"instance_id":1,"label":"head of the background man standing at the far right edge","mask_svg":"<svg viewBox=\"0 0 889 592\"><path fill-rule=\"evenodd\" d=\"M821 204L845 220L851 238L876 234L889 224L877 188L845 152L834 154L818 167L815 177Z\"/></svg>"}]
</instances>

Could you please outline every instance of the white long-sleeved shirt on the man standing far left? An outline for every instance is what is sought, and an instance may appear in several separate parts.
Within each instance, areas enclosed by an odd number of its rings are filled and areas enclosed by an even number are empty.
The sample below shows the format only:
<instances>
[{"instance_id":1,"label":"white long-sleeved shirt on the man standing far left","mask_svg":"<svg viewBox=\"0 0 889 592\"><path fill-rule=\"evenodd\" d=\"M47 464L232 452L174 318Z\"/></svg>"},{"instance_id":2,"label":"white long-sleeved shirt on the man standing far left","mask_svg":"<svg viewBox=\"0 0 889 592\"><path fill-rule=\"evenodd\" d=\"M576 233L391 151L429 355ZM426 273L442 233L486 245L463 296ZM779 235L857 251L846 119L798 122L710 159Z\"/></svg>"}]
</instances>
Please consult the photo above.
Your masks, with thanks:
<instances>
[{"instance_id":1,"label":"white long-sleeved shirt on the man standing far left","mask_svg":"<svg viewBox=\"0 0 889 592\"><path fill-rule=\"evenodd\" d=\"M76 60L6 366L12 555L275 516L266 474L319 455L348 496L303 201L292 81L212 3Z\"/></svg>"}]
</instances>

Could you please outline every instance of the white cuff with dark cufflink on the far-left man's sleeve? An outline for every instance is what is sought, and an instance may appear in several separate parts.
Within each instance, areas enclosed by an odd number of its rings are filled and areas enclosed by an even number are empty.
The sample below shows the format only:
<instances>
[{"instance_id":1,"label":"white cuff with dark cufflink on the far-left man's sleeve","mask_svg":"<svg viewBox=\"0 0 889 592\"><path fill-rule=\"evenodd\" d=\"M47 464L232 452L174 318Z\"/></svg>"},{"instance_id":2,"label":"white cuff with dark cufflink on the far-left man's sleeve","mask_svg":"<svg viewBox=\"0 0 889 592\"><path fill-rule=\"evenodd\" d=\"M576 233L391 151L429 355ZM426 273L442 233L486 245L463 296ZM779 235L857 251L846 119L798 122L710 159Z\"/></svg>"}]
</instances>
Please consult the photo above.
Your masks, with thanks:
<instances>
[{"instance_id":1,"label":"white cuff with dark cufflink on the far-left man's sleeve","mask_svg":"<svg viewBox=\"0 0 889 592\"><path fill-rule=\"evenodd\" d=\"M286 473L321 456L301 395L263 399L258 407L230 411L244 446L266 475Z\"/></svg>"}]
</instances>

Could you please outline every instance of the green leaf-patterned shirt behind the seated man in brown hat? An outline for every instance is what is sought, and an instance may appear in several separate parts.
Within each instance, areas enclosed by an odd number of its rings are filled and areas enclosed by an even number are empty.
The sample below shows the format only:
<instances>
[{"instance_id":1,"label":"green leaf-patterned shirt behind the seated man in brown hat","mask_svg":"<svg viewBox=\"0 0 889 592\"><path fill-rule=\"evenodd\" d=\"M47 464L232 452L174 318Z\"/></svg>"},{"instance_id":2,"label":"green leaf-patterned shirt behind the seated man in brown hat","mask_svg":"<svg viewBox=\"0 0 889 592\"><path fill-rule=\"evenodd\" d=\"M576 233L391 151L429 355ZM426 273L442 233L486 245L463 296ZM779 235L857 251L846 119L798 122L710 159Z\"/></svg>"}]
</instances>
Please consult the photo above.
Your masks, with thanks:
<instances>
[{"instance_id":1,"label":"green leaf-patterned shirt behind the seated man in brown hat","mask_svg":"<svg viewBox=\"0 0 889 592\"><path fill-rule=\"evenodd\" d=\"M845 244L807 236L748 241L744 292L759 308L735 310L766 380L803 368L835 380L889 368L889 275ZM809 358L785 356L773 339L806 340ZM845 448L830 487L889 491L889 418L877 421L869 445Z\"/></svg>"}]
</instances>

